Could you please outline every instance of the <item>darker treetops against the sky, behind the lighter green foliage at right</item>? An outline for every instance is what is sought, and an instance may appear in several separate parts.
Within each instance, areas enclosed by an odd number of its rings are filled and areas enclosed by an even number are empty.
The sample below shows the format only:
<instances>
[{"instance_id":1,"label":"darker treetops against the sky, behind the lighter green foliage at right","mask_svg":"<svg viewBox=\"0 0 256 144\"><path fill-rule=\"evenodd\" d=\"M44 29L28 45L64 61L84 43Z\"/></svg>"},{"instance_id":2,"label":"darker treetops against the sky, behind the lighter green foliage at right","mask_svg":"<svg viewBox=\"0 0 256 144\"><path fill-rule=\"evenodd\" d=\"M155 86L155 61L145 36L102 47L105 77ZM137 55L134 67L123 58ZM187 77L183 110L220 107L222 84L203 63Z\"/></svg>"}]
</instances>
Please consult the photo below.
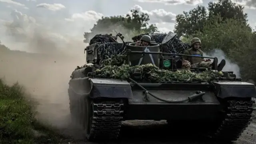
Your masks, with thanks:
<instances>
[{"instance_id":1,"label":"darker treetops against the sky, behind the lighter green foliage at right","mask_svg":"<svg viewBox=\"0 0 256 144\"><path fill-rule=\"evenodd\" d=\"M178 36L193 35L196 31L202 32L204 23L214 16L220 16L224 22L226 19L241 20L243 24L247 24L247 14L244 7L233 3L231 0L218 0L217 3L208 3L208 13L204 6L197 6L189 12L183 12L176 17L176 25L174 32ZM214 21L216 22L216 21Z\"/></svg>"}]
</instances>

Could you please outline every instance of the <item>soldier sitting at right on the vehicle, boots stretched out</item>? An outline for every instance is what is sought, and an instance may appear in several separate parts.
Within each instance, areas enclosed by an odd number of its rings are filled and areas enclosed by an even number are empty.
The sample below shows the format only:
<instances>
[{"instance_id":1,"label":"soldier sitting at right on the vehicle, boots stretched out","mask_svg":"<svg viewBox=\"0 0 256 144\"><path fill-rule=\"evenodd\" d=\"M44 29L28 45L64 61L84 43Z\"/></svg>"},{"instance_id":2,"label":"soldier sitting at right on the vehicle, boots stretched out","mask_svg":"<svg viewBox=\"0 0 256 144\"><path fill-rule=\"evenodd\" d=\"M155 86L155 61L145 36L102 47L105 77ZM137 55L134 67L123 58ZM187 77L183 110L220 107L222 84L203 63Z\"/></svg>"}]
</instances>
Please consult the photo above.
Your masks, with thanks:
<instances>
[{"instance_id":1,"label":"soldier sitting at right on the vehicle, boots stretched out","mask_svg":"<svg viewBox=\"0 0 256 144\"><path fill-rule=\"evenodd\" d=\"M190 42L191 48L186 50L184 54L186 55L192 55L192 56L203 56L201 48L201 40L199 38L192 38ZM206 60L204 58L200 57L192 57L192 56L182 56L182 67L188 68L188 62L190 63L191 68L199 68L199 67L204 67L204 68L209 68L212 67L214 70L214 65L217 66L218 61L213 61L211 62L210 59ZM221 60L220 64L218 64L218 71L221 71L226 64L225 60Z\"/></svg>"}]
</instances>

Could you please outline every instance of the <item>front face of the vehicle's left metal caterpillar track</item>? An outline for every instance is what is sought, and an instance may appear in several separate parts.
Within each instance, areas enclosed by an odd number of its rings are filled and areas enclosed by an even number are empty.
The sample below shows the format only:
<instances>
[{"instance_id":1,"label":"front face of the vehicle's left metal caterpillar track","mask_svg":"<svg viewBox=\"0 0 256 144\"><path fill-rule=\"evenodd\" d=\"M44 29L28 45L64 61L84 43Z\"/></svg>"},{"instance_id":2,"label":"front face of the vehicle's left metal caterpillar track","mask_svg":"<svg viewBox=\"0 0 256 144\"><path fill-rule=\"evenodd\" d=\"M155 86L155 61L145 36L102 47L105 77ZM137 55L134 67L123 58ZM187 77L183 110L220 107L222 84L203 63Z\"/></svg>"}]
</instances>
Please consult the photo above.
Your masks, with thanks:
<instances>
[{"instance_id":1,"label":"front face of the vehicle's left metal caterpillar track","mask_svg":"<svg viewBox=\"0 0 256 144\"><path fill-rule=\"evenodd\" d=\"M88 104L88 105L87 105ZM123 102L120 100L86 101L85 130L88 141L116 140L123 119Z\"/></svg>"}]
</instances>

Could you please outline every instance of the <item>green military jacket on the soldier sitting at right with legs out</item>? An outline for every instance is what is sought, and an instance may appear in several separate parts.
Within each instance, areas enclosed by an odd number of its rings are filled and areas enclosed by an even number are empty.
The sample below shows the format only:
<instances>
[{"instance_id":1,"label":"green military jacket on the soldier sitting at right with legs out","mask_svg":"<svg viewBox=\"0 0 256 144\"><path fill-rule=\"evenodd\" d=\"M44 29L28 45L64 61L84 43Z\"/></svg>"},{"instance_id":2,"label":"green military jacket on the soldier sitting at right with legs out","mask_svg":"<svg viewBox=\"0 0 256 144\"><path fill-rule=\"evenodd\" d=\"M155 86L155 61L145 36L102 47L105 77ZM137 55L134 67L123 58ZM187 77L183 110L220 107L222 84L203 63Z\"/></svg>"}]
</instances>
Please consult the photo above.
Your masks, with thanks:
<instances>
[{"instance_id":1,"label":"green military jacket on the soldier sitting at right with legs out","mask_svg":"<svg viewBox=\"0 0 256 144\"><path fill-rule=\"evenodd\" d=\"M193 50L193 48L190 48L188 50L186 50L184 52L184 54L186 55L192 55L192 56L203 56L203 52L202 50ZM202 60L204 58L199 58L199 57L192 57L192 56L182 56L182 61L184 60L188 60L190 62L190 64L195 64L195 63L198 63L198 62L202 62Z\"/></svg>"}]
</instances>

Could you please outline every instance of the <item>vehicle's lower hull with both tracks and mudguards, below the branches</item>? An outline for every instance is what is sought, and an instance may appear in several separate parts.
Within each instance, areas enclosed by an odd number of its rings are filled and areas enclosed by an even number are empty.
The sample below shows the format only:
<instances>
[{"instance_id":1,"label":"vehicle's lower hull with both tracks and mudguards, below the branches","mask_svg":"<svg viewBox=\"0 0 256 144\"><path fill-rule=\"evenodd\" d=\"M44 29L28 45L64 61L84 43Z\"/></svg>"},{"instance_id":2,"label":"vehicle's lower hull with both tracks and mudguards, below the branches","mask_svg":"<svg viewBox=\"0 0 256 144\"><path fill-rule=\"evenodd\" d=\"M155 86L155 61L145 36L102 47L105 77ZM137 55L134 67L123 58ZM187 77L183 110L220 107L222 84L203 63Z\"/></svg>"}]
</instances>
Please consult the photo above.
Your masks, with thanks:
<instances>
[{"instance_id":1,"label":"vehicle's lower hull with both tracks and mudguards, below the branches","mask_svg":"<svg viewBox=\"0 0 256 144\"><path fill-rule=\"evenodd\" d=\"M205 92L198 100L168 103L126 80L88 78L90 71L82 68L73 72L68 89L71 115L86 130L89 141L118 138L125 120L167 120L170 125L201 122L212 126L207 130L212 138L233 141L254 116L256 90L250 83L139 83L164 100L182 100L196 91Z\"/></svg>"}]
</instances>

